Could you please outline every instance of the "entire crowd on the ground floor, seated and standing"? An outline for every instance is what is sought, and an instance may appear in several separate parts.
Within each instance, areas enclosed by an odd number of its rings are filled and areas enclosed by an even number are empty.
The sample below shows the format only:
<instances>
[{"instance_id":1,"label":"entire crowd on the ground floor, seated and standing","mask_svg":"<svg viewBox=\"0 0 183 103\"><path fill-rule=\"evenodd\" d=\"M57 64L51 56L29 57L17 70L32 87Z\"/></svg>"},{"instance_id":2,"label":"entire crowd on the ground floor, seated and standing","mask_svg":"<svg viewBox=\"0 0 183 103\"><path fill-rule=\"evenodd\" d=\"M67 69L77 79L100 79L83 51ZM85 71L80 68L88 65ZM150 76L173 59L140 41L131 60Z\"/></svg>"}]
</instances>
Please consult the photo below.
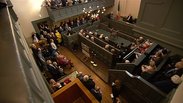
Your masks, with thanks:
<instances>
[{"instance_id":1,"label":"entire crowd on the ground floor, seated and standing","mask_svg":"<svg viewBox=\"0 0 183 103\"><path fill-rule=\"evenodd\" d=\"M51 0L56 1L56 0ZM50 1L50 3L51 3ZM74 0L73 0L74 1ZM62 4L63 5L63 4ZM90 18L89 16L81 16L67 21L62 21L60 25L55 25L50 28L47 24L41 24L39 26L40 33L33 33L31 44L31 49L35 60L40 67L41 71L47 71L49 76L49 83L54 91L62 88L70 80L65 82L57 82L62 76L66 75L64 73L64 68L72 68L74 65L70 59L61 54L58 50L59 46L63 45L62 33L66 31L66 35L72 35L74 27L79 27L88 21L96 21L98 18ZM81 29L79 34L95 42L95 37L102 39L106 44L103 48L112 52L115 55L116 62L124 62L123 57L127 55L131 50L137 48L135 53L135 59L137 59L141 54L145 53L146 50L152 45L150 40L145 40L143 37L139 37L134 42L131 43L129 47L124 47L123 43L114 44L110 41L110 38L117 37L118 31L111 28L111 35L104 36L104 34L99 34L98 32L91 32L86 29ZM110 45L120 49L119 53L116 53L114 48L109 48ZM167 49L157 50L153 55L150 56L148 64L143 64L141 66L142 73L147 72L152 74L157 71L157 65L167 54ZM131 60L126 60L126 63L131 62ZM168 93L172 88L175 88L181 83L180 76L183 74L183 60L176 62L174 65L169 65L169 68L162 73L162 77L158 77L158 81L153 81L152 83L159 89ZM81 72L77 74L77 78L86 86L86 88L95 96L95 98L101 102L102 92L95 82L89 75L83 75ZM161 79L159 79L161 78ZM166 87L166 88L165 88ZM112 93L114 103L120 103L120 83L115 81L112 84Z\"/></svg>"}]
</instances>

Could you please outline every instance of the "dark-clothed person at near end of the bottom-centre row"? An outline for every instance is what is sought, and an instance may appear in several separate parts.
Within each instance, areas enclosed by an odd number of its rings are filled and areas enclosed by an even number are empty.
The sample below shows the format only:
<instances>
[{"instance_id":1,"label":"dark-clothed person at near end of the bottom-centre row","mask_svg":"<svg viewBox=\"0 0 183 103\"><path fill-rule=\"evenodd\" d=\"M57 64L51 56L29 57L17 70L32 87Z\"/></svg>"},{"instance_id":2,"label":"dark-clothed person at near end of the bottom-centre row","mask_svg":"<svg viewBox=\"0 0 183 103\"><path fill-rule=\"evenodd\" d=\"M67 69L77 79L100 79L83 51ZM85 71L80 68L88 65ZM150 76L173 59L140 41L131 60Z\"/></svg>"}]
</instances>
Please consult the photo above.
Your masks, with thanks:
<instances>
[{"instance_id":1,"label":"dark-clothed person at near end of the bottom-centre row","mask_svg":"<svg viewBox=\"0 0 183 103\"><path fill-rule=\"evenodd\" d=\"M101 101L102 101L102 92L101 92L100 88L98 86L95 86L95 88L91 89L91 93L101 103Z\"/></svg>"}]
</instances>

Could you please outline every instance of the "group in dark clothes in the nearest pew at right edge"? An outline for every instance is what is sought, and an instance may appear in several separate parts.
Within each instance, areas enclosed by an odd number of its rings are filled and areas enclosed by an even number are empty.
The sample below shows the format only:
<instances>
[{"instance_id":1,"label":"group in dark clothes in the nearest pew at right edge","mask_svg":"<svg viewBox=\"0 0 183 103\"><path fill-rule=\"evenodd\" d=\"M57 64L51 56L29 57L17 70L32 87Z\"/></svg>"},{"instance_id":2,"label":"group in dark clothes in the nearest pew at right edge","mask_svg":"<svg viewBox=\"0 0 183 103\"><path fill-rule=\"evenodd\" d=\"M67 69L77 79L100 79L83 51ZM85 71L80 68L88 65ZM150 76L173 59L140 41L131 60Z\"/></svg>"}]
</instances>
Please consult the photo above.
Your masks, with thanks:
<instances>
[{"instance_id":1,"label":"group in dark clothes in the nearest pew at right edge","mask_svg":"<svg viewBox=\"0 0 183 103\"><path fill-rule=\"evenodd\" d=\"M158 75L151 80L152 84L165 93L169 93L182 82L183 59L173 59L171 58L168 63L163 66Z\"/></svg>"}]
</instances>

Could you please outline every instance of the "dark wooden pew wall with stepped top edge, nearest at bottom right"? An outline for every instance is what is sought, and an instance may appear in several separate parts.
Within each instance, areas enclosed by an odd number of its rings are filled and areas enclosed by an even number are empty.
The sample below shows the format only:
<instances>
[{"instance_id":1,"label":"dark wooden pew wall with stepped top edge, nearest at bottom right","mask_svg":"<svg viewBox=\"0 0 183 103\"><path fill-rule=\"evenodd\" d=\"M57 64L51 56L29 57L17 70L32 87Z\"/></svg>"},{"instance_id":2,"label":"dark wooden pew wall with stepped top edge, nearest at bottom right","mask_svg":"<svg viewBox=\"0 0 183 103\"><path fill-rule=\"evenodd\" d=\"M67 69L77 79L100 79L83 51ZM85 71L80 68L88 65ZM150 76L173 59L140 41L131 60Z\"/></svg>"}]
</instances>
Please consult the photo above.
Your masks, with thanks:
<instances>
[{"instance_id":1,"label":"dark wooden pew wall with stepped top edge, nearest at bottom right","mask_svg":"<svg viewBox=\"0 0 183 103\"><path fill-rule=\"evenodd\" d=\"M140 76L134 76L126 70L109 69L109 72L110 82L119 79L123 86L127 87L135 94L135 97L141 98L145 103L159 103L167 96L148 81Z\"/></svg>"}]
</instances>

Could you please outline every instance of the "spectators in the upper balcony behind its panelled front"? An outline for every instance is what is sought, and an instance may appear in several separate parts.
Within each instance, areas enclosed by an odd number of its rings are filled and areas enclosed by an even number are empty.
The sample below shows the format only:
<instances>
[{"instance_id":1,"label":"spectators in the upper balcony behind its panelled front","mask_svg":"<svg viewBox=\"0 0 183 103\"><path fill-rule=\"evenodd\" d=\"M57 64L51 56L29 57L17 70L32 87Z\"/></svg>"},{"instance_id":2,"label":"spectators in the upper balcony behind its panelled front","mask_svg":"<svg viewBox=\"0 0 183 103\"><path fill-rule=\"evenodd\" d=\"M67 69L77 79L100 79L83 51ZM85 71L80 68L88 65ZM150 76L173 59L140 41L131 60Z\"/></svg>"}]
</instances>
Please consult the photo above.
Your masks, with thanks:
<instances>
[{"instance_id":1,"label":"spectators in the upper balcony behind its panelled front","mask_svg":"<svg viewBox=\"0 0 183 103\"><path fill-rule=\"evenodd\" d=\"M73 6L81 3L87 3L91 0L45 0L45 6L51 9L58 9L66 6Z\"/></svg>"}]
</instances>

